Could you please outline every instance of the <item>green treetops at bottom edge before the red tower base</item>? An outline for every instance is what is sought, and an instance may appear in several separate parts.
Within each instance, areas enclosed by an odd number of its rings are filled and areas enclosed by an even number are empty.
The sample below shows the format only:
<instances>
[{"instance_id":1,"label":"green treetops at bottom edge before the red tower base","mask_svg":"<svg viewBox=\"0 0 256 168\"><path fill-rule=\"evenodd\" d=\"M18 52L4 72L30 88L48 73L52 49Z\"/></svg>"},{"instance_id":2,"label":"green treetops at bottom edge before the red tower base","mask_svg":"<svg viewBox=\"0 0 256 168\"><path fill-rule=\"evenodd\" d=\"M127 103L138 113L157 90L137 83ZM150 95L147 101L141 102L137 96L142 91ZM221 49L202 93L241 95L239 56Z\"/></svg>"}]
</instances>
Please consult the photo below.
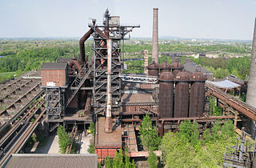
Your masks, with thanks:
<instances>
[{"instance_id":1,"label":"green treetops at bottom edge before the red tower base","mask_svg":"<svg viewBox=\"0 0 256 168\"><path fill-rule=\"evenodd\" d=\"M115 158L106 158L106 168L135 168L134 160L130 162L130 158L125 150L124 154L122 150L115 153Z\"/></svg>"}]
</instances>

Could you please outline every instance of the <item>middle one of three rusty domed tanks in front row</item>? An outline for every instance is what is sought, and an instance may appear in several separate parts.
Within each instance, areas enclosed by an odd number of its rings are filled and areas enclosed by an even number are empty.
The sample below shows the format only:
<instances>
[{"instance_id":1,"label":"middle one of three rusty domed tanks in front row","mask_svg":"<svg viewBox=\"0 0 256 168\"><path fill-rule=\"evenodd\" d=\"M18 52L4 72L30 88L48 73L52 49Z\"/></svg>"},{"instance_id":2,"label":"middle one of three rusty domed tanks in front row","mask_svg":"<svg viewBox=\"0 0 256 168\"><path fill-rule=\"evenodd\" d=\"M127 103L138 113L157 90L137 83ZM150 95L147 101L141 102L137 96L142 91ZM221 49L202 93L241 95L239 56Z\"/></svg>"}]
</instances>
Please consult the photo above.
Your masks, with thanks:
<instances>
[{"instance_id":1,"label":"middle one of three rusty domed tanks in front row","mask_svg":"<svg viewBox=\"0 0 256 168\"><path fill-rule=\"evenodd\" d=\"M187 72L179 72L174 78L174 118L186 118L189 116L190 77Z\"/></svg>"}]
</instances>

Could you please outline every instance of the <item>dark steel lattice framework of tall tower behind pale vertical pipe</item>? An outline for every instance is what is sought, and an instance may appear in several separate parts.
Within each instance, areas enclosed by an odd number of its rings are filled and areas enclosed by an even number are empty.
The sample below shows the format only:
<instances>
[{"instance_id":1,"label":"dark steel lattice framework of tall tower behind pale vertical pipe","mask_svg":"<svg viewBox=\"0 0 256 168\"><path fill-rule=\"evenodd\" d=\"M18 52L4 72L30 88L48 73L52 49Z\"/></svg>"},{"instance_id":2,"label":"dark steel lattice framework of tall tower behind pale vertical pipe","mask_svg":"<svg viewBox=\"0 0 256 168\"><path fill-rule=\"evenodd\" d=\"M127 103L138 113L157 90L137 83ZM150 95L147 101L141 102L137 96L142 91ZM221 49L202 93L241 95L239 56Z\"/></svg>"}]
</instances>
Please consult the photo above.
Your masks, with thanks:
<instances>
[{"instance_id":1,"label":"dark steel lattice framework of tall tower behind pale vertical pipe","mask_svg":"<svg viewBox=\"0 0 256 168\"><path fill-rule=\"evenodd\" d=\"M125 35L139 26L120 26L109 23L111 19L108 10L104 15L103 26L89 25L94 30L94 90L93 106L95 114L105 114L106 111L106 85L107 85L107 44L112 39L112 68L111 68L111 96L112 112L119 111L121 102L121 41Z\"/></svg>"}]
</instances>

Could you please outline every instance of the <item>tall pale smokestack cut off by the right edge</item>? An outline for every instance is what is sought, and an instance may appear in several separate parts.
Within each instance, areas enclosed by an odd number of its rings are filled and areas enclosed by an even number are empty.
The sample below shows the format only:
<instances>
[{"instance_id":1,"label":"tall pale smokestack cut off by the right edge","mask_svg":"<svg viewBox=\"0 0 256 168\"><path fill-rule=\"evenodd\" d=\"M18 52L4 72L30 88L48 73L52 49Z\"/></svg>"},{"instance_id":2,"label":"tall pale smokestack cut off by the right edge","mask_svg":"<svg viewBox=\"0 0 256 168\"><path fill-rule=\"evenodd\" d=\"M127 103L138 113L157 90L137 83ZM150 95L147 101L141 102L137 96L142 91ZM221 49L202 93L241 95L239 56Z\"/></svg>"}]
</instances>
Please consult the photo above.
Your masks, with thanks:
<instances>
[{"instance_id":1,"label":"tall pale smokestack cut off by the right edge","mask_svg":"<svg viewBox=\"0 0 256 168\"><path fill-rule=\"evenodd\" d=\"M256 18L254 22L254 39L250 58L250 74L246 102L256 108Z\"/></svg>"}]
</instances>

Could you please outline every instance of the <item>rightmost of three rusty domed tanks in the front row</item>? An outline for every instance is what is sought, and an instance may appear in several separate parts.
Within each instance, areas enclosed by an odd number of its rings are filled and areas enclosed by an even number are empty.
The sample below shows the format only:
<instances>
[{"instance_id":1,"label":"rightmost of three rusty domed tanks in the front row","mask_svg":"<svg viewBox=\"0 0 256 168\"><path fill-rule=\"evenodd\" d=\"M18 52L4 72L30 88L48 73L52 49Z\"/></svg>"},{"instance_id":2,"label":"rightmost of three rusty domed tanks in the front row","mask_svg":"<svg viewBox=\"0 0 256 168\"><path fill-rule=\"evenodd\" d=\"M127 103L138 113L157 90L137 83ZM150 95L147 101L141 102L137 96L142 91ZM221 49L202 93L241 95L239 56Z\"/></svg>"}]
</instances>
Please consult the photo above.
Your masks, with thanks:
<instances>
[{"instance_id":1,"label":"rightmost of three rusty domed tanks in the front row","mask_svg":"<svg viewBox=\"0 0 256 168\"><path fill-rule=\"evenodd\" d=\"M190 86L190 112L189 117L202 117L205 100L206 77L202 72L194 72Z\"/></svg>"}]
</instances>

